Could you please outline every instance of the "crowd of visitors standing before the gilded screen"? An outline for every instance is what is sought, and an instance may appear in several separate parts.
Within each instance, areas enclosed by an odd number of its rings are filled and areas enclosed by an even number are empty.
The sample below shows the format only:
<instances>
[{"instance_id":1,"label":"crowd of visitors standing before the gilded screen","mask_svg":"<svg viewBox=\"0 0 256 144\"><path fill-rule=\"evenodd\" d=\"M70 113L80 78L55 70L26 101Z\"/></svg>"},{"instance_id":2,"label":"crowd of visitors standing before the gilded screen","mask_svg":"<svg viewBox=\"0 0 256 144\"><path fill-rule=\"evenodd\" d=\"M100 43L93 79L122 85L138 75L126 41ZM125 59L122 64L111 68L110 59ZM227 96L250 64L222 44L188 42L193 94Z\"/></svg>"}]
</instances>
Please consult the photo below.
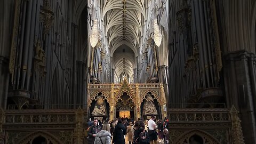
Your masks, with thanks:
<instances>
[{"instance_id":1,"label":"crowd of visitors standing before the gilded screen","mask_svg":"<svg viewBox=\"0 0 256 144\"><path fill-rule=\"evenodd\" d=\"M146 125L145 125L146 124ZM129 144L158 144L169 143L168 134L169 119L167 117L156 120L154 115L147 121L138 118L116 118L105 122L90 118L88 122L88 143L89 144L124 144L125 139Z\"/></svg>"}]
</instances>

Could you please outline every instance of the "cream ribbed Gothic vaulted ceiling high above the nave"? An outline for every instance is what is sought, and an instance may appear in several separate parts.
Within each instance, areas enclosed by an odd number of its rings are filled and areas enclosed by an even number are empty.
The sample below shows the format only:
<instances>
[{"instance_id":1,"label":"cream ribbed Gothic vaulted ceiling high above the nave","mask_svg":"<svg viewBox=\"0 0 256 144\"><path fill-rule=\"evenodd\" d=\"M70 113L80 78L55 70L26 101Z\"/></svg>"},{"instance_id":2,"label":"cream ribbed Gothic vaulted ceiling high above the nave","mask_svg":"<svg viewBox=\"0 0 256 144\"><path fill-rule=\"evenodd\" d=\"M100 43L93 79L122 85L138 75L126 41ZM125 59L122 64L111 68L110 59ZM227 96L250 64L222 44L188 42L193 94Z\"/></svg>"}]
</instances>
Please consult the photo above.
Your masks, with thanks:
<instances>
[{"instance_id":1,"label":"cream ribbed Gothic vaulted ceiling high above the nave","mask_svg":"<svg viewBox=\"0 0 256 144\"><path fill-rule=\"evenodd\" d=\"M104 2L102 15L107 20L105 35L108 36L112 56L118 47L124 45L131 48L135 57L138 55L137 47L142 31L141 21L146 14L144 3L144 0L107 0ZM133 74L134 58L125 58L125 55L124 57L116 58L114 67L118 65L125 66L125 69L116 69L115 73L117 76L124 71Z\"/></svg>"}]
</instances>

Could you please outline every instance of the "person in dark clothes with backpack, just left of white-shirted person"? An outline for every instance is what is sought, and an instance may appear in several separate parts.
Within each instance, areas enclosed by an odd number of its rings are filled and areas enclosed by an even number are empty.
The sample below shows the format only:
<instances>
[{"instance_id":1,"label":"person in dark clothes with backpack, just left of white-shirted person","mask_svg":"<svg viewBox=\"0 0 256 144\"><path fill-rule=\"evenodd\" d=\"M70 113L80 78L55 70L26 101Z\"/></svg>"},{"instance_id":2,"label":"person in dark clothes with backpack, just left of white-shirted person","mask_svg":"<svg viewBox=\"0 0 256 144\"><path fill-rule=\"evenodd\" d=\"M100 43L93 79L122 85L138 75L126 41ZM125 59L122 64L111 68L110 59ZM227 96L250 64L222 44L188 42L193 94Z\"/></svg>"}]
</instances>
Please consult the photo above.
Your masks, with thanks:
<instances>
[{"instance_id":1,"label":"person in dark clothes with backpack, just left of white-shirted person","mask_svg":"<svg viewBox=\"0 0 256 144\"><path fill-rule=\"evenodd\" d=\"M137 130L134 131L135 144L149 144L149 135L147 130L145 130L145 124L143 121L138 121L139 125ZM136 123L135 123L136 125Z\"/></svg>"}]
</instances>

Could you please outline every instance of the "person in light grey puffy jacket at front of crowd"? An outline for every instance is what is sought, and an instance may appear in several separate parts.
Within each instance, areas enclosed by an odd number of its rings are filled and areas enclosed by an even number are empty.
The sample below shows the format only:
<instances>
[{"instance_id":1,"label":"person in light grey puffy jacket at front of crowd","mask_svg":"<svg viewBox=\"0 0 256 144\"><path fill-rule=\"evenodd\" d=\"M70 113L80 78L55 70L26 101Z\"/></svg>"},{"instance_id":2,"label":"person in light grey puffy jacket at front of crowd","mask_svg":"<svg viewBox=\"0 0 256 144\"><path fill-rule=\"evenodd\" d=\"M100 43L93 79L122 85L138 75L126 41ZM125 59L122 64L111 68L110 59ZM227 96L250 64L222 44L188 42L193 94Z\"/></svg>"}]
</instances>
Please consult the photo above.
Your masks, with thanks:
<instances>
[{"instance_id":1,"label":"person in light grey puffy jacket at front of crowd","mask_svg":"<svg viewBox=\"0 0 256 144\"><path fill-rule=\"evenodd\" d=\"M96 134L94 144L111 144L111 134L106 130L101 130Z\"/></svg>"}]
</instances>

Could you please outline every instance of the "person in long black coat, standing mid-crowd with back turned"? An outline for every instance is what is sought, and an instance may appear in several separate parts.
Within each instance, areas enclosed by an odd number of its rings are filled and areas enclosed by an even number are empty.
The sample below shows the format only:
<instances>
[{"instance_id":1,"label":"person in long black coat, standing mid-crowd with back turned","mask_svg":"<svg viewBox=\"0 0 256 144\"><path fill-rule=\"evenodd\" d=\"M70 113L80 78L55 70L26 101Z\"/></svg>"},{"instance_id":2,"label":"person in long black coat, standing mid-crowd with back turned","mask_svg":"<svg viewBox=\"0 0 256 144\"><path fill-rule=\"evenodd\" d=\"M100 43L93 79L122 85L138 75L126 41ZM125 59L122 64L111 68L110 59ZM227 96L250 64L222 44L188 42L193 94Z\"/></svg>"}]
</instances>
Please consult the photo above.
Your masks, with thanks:
<instances>
[{"instance_id":1,"label":"person in long black coat, standing mid-crowd with back turned","mask_svg":"<svg viewBox=\"0 0 256 144\"><path fill-rule=\"evenodd\" d=\"M122 124L122 119L118 119L118 122L114 129L113 141L115 144L125 144L124 135L126 134L126 129L124 124Z\"/></svg>"}]
</instances>

